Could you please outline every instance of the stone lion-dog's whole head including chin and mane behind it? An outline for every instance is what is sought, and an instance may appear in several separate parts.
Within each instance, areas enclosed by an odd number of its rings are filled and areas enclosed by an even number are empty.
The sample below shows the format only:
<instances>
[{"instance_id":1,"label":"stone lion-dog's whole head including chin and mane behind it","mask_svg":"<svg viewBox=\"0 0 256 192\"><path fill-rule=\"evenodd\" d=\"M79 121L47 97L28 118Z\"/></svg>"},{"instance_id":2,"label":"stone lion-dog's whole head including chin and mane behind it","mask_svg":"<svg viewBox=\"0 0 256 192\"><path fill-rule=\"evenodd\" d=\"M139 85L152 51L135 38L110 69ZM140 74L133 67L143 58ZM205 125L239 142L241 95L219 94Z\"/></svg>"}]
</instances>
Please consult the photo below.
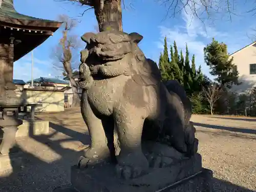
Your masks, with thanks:
<instances>
[{"instance_id":1,"label":"stone lion-dog's whole head including chin and mane behind it","mask_svg":"<svg viewBox=\"0 0 256 192\"><path fill-rule=\"evenodd\" d=\"M160 81L157 64L146 59L138 46L143 38L140 34L103 31L97 34L85 33L81 38L87 43L86 49L81 51L81 62L90 67L92 74L100 66L100 72L105 76L124 74L144 85Z\"/></svg>"}]
</instances>

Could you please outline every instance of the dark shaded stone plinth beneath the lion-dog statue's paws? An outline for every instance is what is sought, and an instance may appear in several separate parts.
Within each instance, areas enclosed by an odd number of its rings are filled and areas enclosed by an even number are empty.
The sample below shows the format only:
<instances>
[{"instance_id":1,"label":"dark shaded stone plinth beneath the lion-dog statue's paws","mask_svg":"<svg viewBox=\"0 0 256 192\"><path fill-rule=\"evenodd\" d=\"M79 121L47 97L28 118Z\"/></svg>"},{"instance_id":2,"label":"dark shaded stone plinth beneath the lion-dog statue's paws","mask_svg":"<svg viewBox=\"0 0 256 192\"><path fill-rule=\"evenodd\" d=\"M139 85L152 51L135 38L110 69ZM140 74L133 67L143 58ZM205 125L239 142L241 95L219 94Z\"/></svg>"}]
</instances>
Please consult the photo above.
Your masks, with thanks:
<instances>
[{"instance_id":1,"label":"dark shaded stone plinth beneath the lion-dog statue's paws","mask_svg":"<svg viewBox=\"0 0 256 192\"><path fill-rule=\"evenodd\" d=\"M79 192L160 192L160 191L211 191L212 172L202 168L201 155L184 159L164 168L152 168L147 174L132 180L116 177L112 164L71 168L72 188L62 191ZM58 189L61 191L61 189Z\"/></svg>"}]
</instances>

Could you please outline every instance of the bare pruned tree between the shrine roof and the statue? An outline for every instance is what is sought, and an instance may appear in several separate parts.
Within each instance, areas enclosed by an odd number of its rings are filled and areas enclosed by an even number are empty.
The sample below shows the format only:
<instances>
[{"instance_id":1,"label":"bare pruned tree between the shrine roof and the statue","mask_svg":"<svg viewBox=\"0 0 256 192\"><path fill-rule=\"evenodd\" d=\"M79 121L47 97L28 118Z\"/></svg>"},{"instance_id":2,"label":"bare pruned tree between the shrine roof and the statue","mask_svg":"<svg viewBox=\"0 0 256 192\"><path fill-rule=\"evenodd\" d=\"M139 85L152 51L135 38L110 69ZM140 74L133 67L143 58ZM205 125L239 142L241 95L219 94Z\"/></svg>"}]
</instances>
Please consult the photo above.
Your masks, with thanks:
<instances>
[{"instance_id":1,"label":"bare pruned tree between the shrine roof and the statue","mask_svg":"<svg viewBox=\"0 0 256 192\"><path fill-rule=\"evenodd\" d=\"M79 47L77 37L71 34L71 31L76 26L76 20L71 19L67 15L60 15L58 20L63 22L63 28L62 37L53 52L53 56L57 58L55 67L62 69L63 75L67 76L71 83L73 90L72 106L79 106L80 96L78 94L78 85L74 79L74 68L72 67L76 62L72 56L77 53L77 48Z\"/></svg>"}]
</instances>

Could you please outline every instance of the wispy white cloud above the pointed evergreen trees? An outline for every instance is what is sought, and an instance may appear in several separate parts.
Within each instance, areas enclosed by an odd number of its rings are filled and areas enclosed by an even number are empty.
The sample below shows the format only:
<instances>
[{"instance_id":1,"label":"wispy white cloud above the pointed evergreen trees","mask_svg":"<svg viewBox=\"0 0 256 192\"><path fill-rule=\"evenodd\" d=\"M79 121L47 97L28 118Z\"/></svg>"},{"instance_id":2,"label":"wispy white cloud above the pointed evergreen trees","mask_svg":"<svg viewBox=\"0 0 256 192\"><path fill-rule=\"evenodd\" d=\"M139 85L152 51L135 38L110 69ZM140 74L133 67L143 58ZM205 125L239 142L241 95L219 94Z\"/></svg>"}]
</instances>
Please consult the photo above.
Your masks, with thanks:
<instances>
[{"instance_id":1,"label":"wispy white cloud above the pointed evergreen trees","mask_svg":"<svg viewBox=\"0 0 256 192\"><path fill-rule=\"evenodd\" d=\"M198 14L200 15L201 7L199 5L196 6ZM201 12L203 12L203 8ZM160 40L157 42L157 46L159 49L163 49L163 39L165 36L168 46L173 45L175 40L178 49L182 49L183 53L185 52L187 44L190 59L191 56L195 54L197 67L201 65L203 73L206 75L209 76L209 68L204 63L203 48L210 43L212 37L227 44L230 53L245 46L244 42L250 43L244 31L232 34L219 31L217 28L207 23L207 20L204 20L203 23L198 17L195 17L191 13L190 8L182 11L181 18L183 22L179 26L174 26L173 28L160 26ZM242 45L239 44L239 42L242 42Z\"/></svg>"}]
</instances>

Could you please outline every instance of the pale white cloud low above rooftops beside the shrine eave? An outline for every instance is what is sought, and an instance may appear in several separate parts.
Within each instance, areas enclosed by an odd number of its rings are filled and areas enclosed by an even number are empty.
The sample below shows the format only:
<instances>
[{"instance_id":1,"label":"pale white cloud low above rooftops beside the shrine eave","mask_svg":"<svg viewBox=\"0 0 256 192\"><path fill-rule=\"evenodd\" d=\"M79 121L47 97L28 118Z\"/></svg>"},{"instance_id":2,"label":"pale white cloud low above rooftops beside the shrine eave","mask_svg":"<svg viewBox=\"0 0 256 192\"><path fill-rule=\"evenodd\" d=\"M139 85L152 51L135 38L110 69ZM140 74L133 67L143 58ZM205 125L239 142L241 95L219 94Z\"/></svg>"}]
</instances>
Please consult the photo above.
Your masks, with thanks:
<instances>
[{"instance_id":1,"label":"pale white cloud low above rooftops beside the shrine eave","mask_svg":"<svg viewBox=\"0 0 256 192\"><path fill-rule=\"evenodd\" d=\"M51 77L60 76L61 71L53 67L52 60L40 60L34 57L33 65L33 79L39 77L48 77L49 74L52 74ZM14 62L13 69L13 78L14 79L23 79L28 81L31 79L31 57L26 55L18 61Z\"/></svg>"}]
</instances>

